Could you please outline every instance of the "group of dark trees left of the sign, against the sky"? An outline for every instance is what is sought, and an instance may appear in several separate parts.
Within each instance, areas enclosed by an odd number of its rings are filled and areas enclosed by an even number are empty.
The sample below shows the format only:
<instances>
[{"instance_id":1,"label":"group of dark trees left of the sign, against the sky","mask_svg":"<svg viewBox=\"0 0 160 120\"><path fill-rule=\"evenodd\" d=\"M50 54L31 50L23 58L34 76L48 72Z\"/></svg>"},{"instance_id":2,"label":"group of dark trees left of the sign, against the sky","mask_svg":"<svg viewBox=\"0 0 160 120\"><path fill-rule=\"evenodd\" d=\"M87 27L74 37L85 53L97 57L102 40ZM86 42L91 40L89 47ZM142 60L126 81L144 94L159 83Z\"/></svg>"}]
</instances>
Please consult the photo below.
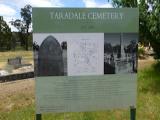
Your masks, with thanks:
<instances>
[{"instance_id":1,"label":"group of dark trees left of the sign, against the sky","mask_svg":"<svg viewBox=\"0 0 160 120\"><path fill-rule=\"evenodd\" d=\"M32 22L32 7L26 5L21 8L21 19L10 21L17 28L18 32L11 32L11 29L0 16L0 51L16 50L17 47L29 50L32 48L32 32L29 32Z\"/></svg>"}]
</instances>

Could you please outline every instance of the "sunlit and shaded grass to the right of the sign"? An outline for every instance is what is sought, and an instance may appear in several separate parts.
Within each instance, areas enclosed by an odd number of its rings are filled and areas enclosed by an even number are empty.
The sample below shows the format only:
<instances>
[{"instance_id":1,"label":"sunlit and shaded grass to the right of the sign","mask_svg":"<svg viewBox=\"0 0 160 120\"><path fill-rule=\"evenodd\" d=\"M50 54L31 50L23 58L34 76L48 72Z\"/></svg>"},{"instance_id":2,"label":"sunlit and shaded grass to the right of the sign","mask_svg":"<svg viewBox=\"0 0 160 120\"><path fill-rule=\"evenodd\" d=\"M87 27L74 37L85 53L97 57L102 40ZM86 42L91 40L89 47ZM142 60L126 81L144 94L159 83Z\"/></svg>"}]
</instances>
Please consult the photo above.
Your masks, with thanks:
<instances>
[{"instance_id":1,"label":"sunlit and shaded grass to the right of the sign","mask_svg":"<svg viewBox=\"0 0 160 120\"><path fill-rule=\"evenodd\" d=\"M160 63L138 73L137 118L160 120Z\"/></svg>"}]
</instances>

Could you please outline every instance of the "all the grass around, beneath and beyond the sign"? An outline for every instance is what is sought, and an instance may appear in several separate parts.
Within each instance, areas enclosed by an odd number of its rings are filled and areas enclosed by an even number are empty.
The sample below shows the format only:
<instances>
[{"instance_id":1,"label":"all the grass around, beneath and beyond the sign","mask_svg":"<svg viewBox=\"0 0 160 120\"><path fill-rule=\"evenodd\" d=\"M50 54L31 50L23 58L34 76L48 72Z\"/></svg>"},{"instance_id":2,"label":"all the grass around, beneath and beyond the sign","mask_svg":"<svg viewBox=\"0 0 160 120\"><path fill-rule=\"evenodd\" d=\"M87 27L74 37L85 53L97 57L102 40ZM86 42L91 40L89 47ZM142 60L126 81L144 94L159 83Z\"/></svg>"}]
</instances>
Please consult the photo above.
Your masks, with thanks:
<instances>
[{"instance_id":1,"label":"all the grass around, beneath and beyond the sign","mask_svg":"<svg viewBox=\"0 0 160 120\"><path fill-rule=\"evenodd\" d=\"M19 51L19 55L32 59L32 53ZM4 56L4 61L11 56L10 52ZM147 62L140 63L141 68L138 71L138 95L137 95L137 120L160 120L160 63L153 65ZM0 99L0 120L34 120L35 119L35 101L34 91L28 93L29 89L23 92L6 95ZM43 120L129 120L130 111L126 110L108 110L96 112L80 113L57 113L43 114Z\"/></svg>"}]
</instances>

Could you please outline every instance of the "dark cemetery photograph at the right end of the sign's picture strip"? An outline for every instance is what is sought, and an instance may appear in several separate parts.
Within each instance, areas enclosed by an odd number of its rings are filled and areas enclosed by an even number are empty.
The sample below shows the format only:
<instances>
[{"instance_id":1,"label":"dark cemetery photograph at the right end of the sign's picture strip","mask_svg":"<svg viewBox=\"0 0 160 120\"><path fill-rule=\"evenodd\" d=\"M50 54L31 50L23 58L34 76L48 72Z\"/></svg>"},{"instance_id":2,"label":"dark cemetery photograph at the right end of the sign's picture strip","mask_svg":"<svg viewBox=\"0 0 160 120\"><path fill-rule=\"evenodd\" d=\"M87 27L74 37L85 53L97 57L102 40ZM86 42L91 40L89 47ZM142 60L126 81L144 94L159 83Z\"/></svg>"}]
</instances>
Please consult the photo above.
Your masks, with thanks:
<instances>
[{"instance_id":1,"label":"dark cemetery photograph at the right end of the sign's picture strip","mask_svg":"<svg viewBox=\"0 0 160 120\"><path fill-rule=\"evenodd\" d=\"M104 74L137 72L136 33L104 34Z\"/></svg>"}]
</instances>

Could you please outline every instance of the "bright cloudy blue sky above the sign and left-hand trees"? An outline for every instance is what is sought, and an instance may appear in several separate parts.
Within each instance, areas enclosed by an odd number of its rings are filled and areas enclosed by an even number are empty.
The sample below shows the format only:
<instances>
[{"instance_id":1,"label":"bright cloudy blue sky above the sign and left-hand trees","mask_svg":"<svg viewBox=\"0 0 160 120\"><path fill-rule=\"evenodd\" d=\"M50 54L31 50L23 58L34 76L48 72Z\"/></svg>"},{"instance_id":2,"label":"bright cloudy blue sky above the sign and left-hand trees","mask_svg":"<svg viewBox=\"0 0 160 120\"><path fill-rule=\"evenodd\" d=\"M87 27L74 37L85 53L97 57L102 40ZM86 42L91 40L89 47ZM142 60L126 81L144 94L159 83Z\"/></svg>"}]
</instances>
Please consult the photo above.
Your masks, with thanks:
<instances>
[{"instance_id":1,"label":"bright cloudy blue sky above the sign and left-hand trees","mask_svg":"<svg viewBox=\"0 0 160 120\"><path fill-rule=\"evenodd\" d=\"M10 24L11 20L20 19L20 10L29 4L32 7L102 7L111 8L112 0L0 0L0 16L10 26L12 31L17 31Z\"/></svg>"}]
</instances>

